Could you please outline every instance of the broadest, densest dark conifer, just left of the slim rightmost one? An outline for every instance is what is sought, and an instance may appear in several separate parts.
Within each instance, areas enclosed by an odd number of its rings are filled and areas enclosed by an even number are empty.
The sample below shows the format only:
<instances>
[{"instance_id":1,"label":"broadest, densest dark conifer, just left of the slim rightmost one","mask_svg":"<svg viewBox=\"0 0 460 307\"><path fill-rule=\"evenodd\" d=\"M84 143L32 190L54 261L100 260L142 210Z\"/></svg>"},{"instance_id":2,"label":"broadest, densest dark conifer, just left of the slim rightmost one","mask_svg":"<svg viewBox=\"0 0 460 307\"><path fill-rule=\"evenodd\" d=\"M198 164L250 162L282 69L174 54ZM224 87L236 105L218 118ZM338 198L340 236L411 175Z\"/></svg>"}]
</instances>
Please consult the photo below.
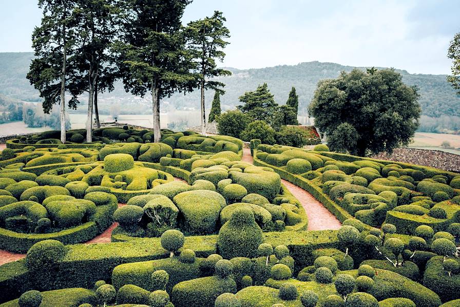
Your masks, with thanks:
<instances>
[{"instance_id":1,"label":"broadest, densest dark conifer, just left of the slim rightmost one","mask_svg":"<svg viewBox=\"0 0 460 307\"><path fill-rule=\"evenodd\" d=\"M160 100L189 92L196 78L189 73L181 17L190 0L120 0L125 9L123 33L116 44L126 91L151 94L154 141L161 139Z\"/></svg>"}]
</instances>

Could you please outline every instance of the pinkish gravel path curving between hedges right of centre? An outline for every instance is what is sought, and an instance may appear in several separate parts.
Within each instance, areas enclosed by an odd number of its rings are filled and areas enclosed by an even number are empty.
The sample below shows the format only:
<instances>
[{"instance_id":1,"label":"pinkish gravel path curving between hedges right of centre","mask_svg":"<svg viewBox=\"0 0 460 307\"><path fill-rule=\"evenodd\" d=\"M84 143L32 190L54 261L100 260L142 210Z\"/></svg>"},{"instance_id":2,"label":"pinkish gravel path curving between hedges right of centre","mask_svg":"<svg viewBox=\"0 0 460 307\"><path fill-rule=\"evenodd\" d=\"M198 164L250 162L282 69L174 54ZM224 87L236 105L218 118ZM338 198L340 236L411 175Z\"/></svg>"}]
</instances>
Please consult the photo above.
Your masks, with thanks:
<instances>
[{"instance_id":1,"label":"pinkish gravel path curving between hedges right of centre","mask_svg":"<svg viewBox=\"0 0 460 307\"><path fill-rule=\"evenodd\" d=\"M243 157L241 160L253 163L254 160L250 149L243 149ZM308 216L308 230L340 228L340 221L337 220L334 214L318 202L312 194L284 179L281 179L281 182L297 198L297 200L299 200L303 209L305 209L306 216Z\"/></svg>"}]
</instances>

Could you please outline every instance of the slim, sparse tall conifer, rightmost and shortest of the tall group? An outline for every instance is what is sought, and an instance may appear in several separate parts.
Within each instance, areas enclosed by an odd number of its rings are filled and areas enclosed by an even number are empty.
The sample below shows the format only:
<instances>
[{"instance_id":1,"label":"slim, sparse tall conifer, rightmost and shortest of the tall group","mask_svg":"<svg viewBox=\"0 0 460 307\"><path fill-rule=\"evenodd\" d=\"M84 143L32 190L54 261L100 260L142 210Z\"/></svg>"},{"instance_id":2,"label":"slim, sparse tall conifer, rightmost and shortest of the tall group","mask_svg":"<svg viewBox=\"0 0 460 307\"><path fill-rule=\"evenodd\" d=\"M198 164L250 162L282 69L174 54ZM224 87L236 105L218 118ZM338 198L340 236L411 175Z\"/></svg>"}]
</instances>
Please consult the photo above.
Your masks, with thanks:
<instances>
[{"instance_id":1,"label":"slim, sparse tall conifer, rightmost and shortest of the tall group","mask_svg":"<svg viewBox=\"0 0 460 307\"><path fill-rule=\"evenodd\" d=\"M209 78L231 75L228 70L217 68L216 60L223 61L225 53L222 51L229 43L225 39L230 37L224 26L225 17L222 12L215 11L212 17L206 17L187 25L187 48L194 59L195 73L198 76L201 89L201 133L206 133L206 112L204 108L205 89L217 91L225 84ZM223 93L223 91L220 89Z\"/></svg>"}]
</instances>

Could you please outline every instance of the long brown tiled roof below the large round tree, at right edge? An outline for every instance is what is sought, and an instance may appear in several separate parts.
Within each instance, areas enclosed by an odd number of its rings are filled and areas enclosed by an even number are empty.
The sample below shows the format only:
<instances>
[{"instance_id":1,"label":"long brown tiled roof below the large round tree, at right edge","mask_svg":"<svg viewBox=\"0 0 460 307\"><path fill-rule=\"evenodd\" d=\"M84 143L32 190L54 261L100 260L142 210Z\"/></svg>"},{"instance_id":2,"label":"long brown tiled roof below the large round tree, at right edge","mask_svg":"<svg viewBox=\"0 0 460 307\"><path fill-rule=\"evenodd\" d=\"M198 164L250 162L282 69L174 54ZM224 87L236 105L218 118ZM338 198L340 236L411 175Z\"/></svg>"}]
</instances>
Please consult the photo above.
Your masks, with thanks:
<instances>
[{"instance_id":1,"label":"long brown tiled roof below the large round tree, at right edge","mask_svg":"<svg viewBox=\"0 0 460 307\"><path fill-rule=\"evenodd\" d=\"M371 158L406 162L410 164L430 166L441 170L460 172L460 155L440 150L418 148L396 148L392 154L381 152Z\"/></svg>"}]
</instances>

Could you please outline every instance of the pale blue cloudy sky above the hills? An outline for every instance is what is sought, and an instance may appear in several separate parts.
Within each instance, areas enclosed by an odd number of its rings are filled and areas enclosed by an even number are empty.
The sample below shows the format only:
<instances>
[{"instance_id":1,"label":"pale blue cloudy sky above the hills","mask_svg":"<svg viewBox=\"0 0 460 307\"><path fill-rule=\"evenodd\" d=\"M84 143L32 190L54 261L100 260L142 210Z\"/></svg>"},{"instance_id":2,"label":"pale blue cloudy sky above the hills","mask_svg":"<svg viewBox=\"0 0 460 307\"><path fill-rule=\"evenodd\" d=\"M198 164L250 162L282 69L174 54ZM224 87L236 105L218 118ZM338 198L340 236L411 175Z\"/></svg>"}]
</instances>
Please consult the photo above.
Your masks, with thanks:
<instances>
[{"instance_id":1,"label":"pale blue cloudy sky above the hills","mask_svg":"<svg viewBox=\"0 0 460 307\"><path fill-rule=\"evenodd\" d=\"M32 51L36 0L0 0L0 52ZM301 62L395 67L450 74L449 42L460 32L460 0L195 0L183 23L222 11L232 37L220 66Z\"/></svg>"}]
</instances>

